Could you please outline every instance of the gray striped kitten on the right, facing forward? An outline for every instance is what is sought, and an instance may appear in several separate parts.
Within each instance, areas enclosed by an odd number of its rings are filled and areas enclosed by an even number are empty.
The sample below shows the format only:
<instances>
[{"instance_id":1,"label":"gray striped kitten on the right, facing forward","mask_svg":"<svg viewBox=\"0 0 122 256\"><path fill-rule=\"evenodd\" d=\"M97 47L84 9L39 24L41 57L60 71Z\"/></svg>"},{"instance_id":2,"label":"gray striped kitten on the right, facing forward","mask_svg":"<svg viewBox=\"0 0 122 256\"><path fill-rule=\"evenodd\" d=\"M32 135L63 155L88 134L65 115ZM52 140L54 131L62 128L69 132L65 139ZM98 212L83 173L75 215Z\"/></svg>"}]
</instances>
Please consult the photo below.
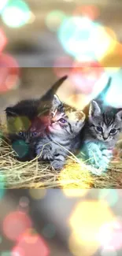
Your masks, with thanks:
<instances>
[{"instance_id":1,"label":"gray striped kitten on the right, facing forward","mask_svg":"<svg viewBox=\"0 0 122 256\"><path fill-rule=\"evenodd\" d=\"M93 101L83 128L83 153L89 163L105 170L113 157L113 148L122 131L122 110Z\"/></svg>"}]
</instances>

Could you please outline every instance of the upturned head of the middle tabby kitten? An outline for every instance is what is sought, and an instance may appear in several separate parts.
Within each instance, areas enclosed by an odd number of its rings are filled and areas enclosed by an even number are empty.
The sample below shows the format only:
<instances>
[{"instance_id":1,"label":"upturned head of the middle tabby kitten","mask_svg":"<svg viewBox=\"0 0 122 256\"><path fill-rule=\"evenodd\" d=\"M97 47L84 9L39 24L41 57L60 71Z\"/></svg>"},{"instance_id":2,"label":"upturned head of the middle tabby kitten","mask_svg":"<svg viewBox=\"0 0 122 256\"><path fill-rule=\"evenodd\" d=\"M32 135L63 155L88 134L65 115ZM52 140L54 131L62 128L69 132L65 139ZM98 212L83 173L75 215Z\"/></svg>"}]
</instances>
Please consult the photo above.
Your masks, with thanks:
<instances>
[{"instance_id":1,"label":"upturned head of the middle tabby kitten","mask_svg":"<svg viewBox=\"0 0 122 256\"><path fill-rule=\"evenodd\" d=\"M83 128L85 114L62 103L57 95L54 95L52 109L50 110L50 125L48 127L52 134L58 136L75 137Z\"/></svg>"}]
</instances>

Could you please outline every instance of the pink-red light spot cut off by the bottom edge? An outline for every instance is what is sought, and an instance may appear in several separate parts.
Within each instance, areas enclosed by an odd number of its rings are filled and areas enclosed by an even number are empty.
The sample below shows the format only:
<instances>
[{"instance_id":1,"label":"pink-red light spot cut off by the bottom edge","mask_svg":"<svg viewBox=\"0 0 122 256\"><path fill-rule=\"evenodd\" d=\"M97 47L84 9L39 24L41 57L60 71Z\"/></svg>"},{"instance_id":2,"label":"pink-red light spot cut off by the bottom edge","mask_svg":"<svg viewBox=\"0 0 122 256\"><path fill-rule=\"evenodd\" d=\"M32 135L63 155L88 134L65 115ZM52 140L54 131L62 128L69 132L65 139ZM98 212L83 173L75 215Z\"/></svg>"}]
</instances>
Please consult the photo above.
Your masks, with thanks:
<instances>
[{"instance_id":1,"label":"pink-red light spot cut off by the bottom edge","mask_svg":"<svg viewBox=\"0 0 122 256\"><path fill-rule=\"evenodd\" d=\"M19 253L20 256L48 256L50 250L44 239L38 234L26 232L20 237L17 245L13 248L13 254Z\"/></svg>"}]
</instances>

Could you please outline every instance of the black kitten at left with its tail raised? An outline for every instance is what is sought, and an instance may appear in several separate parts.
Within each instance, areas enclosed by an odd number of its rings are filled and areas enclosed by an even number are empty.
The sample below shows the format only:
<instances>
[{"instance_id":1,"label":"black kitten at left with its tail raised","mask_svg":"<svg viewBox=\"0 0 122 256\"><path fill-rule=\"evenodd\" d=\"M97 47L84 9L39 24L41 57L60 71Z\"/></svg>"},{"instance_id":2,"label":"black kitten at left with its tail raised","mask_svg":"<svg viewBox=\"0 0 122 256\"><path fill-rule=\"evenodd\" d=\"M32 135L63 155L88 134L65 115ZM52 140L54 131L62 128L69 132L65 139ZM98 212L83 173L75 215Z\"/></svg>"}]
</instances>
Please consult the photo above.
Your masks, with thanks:
<instances>
[{"instance_id":1,"label":"black kitten at left with its tail raised","mask_svg":"<svg viewBox=\"0 0 122 256\"><path fill-rule=\"evenodd\" d=\"M35 158L35 144L50 124L50 107L57 88L67 79L61 77L42 98L22 100L6 108L9 139L20 161Z\"/></svg>"}]
</instances>

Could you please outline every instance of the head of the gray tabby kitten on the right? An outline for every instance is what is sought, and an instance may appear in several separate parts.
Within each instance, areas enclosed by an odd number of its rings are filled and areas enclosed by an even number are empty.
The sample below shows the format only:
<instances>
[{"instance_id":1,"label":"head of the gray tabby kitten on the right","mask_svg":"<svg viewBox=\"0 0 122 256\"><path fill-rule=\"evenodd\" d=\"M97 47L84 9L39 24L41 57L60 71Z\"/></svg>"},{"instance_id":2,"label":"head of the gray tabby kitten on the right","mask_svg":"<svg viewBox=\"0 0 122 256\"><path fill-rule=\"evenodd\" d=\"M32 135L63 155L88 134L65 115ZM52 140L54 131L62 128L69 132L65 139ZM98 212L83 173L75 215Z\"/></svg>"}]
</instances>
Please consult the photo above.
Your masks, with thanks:
<instances>
[{"instance_id":1,"label":"head of the gray tabby kitten on the right","mask_svg":"<svg viewBox=\"0 0 122 256\"><path fill-rule=\"evenodd\" d=\"M122 129L122 110L114 113L112 108L103 113L98 103L93 101L89 109L89 130L95 139L110 142L117 139Z\"/></svg>"}]
</instances>

